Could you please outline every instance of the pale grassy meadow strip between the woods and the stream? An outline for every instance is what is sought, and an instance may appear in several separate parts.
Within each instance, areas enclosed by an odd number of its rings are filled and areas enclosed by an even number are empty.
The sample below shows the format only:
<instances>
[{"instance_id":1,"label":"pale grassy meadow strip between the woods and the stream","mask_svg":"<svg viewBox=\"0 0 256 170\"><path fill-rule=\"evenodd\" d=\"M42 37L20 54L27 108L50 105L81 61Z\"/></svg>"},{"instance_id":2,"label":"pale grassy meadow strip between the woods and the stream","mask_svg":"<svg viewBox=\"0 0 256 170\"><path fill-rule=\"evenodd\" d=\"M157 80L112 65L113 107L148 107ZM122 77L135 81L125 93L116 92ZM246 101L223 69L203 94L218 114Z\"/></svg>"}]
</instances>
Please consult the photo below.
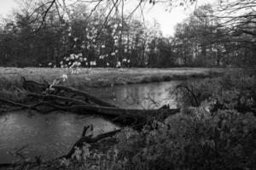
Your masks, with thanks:
<instances>
[{"instance_id":1,"label":"pale grassy meadow strip between the woods and the stream","mask_svg":"<svg viewBox=\"0 0 256 170\"><path fill-rule=\"evenodd\" d=\"M78 74L61 68L14 68L0 67L0 88L9 85L20 87L20 77L36 82L52 82L61 75L67 75L65 86L73 88L97 88L113 85L124 85L146 82L164 82L172 80L186 80L189 78L204 78L220 75L223 69L215 68L82 68ZM7 86L7 87L5 87Z\"/></svg>"}]
</instances>

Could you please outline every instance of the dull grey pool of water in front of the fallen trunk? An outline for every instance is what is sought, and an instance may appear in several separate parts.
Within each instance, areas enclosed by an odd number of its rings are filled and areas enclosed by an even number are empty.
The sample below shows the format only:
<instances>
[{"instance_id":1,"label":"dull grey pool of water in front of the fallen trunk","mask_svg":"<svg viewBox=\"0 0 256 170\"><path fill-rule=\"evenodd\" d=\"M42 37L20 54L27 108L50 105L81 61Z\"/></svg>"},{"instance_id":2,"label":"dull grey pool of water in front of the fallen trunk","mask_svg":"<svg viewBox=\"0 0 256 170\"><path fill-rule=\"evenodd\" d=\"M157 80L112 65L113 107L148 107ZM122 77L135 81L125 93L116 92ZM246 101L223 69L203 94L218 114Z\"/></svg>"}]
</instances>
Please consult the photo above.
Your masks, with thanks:
<instances>
[{"instance_id":1,"label":"dull grey pool of water in front of the fallen trunk","mask_svg":"<svg viewBox=\"0 0 256 170\"><path fill-rule=\"evenodd\" d=\"M14 160L8 152L22 150L23 156L42 156L44 159L61 156L79 139L85 125L94 125L94 132L111 131L116 127L99 117L52 113L33 116L26 112L0 117L0 163Z\"/></svg>"}]
</instances>

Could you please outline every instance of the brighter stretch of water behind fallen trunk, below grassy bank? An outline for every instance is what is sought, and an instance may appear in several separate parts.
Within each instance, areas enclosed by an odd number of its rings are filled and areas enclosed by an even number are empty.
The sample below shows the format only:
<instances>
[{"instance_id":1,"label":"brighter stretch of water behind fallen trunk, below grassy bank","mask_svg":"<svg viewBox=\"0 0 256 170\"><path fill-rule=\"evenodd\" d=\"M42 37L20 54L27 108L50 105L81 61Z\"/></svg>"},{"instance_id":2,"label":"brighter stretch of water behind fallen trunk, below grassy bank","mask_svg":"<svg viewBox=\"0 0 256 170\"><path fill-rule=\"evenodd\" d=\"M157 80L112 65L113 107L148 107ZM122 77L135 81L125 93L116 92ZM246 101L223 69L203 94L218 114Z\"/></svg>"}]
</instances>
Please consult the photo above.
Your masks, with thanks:
<instances>
[{"instance_id":1,"label":"brighter stretch of water behind fallen trunk, below grassy bank","mask_svg":"<svg viewBox=\"0 0 256 170\"><path fill-rule=\"evenodd\" d=\"M168 92L180 81L151 82L148 84L131 84L109 88L90 89L90 94L96 95L121 108L156 109L161 105L177 107L175 96Z\"/></svg>"}]
</instances>

